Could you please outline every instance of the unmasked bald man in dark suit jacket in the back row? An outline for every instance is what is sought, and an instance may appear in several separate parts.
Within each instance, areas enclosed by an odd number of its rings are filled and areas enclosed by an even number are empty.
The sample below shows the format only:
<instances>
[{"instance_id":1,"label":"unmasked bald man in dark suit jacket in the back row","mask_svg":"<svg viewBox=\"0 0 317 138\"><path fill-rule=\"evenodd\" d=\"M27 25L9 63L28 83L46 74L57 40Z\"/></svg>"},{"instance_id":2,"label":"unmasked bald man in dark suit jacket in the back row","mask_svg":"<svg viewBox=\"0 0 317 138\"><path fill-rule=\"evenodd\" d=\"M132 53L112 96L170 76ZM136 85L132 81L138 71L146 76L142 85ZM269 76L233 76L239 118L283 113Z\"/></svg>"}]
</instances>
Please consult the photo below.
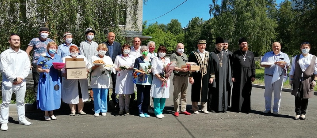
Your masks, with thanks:
<instances>
[{"instance_id":1,"label":"unmasked bald man in dark suit jacket in the back row","mask_svg":"<svg viewBox=\"0 0 317 138\"><path fill-rule=\"evenodd\" d=\"M108 41L104 42L107 45L108 48L108 52L106 53L107 56L110 56L110 58L112 59L112 61L114 62L114 60L116 59L117 55L121 55L121 44L118 42L115 42L116 35L113 32L109 32L107 35ZM113 101L113 103L115 105L118 104L118 100L117 100L117 94L115 93L115 89L116 89L116 80L117 80L117 75L114 73L111 73L111 78L112 78L112 95L111 95L111 99ZM108 101L109 101L109 93L108 93Z\"/></svg>"}]
</instances>

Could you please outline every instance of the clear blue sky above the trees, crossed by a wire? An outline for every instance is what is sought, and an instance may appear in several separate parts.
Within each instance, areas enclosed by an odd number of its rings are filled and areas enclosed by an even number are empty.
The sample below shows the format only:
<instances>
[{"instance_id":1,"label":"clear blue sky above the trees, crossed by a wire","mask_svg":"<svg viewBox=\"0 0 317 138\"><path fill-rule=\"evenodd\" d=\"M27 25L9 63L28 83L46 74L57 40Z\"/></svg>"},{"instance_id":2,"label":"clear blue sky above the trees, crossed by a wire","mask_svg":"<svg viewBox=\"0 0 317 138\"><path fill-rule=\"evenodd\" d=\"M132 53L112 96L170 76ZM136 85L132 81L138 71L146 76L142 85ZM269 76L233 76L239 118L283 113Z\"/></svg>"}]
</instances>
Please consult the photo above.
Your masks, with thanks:
<instances>
[{"instance_id":1,"label":"clear blue sky above the trees, crossed by a wire","mask_svg":"<svg viewBox=\"0 0 317 138\"><path fill-rule=\"evenodd\" d=\"M212 3L212 0L148 0L146 5L143 5L143 21L151 20L147 22L167 24L171 19L178 19L182 27L185 27L188 22L194 17L203 18L203 20L208 20L209 16L209 4ZM276 3L281 3L284 0L276 0ZM162 14L170 11L175 8L180 3L183 3L178 8L174 9L170 13L152 20L156 17L159 17ZM218 0L218 3L221 3L221 0Z\"/></svg>"}]
</instances>

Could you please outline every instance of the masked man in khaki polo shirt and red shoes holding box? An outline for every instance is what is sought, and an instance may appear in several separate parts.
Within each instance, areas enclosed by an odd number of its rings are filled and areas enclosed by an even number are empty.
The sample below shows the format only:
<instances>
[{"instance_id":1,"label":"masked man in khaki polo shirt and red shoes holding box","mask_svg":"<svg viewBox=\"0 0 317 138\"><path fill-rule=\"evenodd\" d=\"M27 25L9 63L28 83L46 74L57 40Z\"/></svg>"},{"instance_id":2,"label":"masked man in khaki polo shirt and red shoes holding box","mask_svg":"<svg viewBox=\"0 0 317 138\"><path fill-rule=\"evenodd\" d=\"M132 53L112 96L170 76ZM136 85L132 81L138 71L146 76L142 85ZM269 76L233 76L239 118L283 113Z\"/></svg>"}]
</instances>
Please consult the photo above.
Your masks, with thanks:
<instances>
[{"instance_id":1,"label":"masked man in khaki polo shirt and red shoes holding box","mask_svg":"<svg viewBox=\"0 0 317 138\"><path fill-rule=\"evenodd\" d=\"M186 65L188 61L187 55L184 53L184 44L178 43L176 46L176 52L170 57L171 62L176 62L176 67L174 68L174 116L179 115L179 96L181 98L181 114L191 115L191 113L186 111L186 95L188 86L188 69L181 68L181 66Z\"/></svg>"}]
</instances>

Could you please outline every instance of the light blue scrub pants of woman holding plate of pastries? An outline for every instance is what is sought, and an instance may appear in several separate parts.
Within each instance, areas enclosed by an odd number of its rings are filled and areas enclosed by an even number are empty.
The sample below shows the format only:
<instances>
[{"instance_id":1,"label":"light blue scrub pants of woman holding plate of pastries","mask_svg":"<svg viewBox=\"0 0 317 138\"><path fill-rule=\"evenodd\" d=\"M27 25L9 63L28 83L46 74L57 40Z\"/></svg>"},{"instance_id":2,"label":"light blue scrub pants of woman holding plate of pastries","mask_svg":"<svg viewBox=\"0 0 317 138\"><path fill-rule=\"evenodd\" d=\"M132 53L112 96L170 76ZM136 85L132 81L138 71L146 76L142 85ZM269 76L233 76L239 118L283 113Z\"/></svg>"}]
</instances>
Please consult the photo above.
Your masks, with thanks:
<instances>
[{"instance_id":1,"label":"light blue scrub pants of woman holding plate of pastries","mask_svg":"<svg viewBox=\"0 0 317 138\"><path fill-rule=\"evenodd\" d=\"M104 89L104 88L98 88L98 89L93 88L95 113L108 111L108 104L107 104L108 90L109 89Z\"/></svg>"}]
</instances>

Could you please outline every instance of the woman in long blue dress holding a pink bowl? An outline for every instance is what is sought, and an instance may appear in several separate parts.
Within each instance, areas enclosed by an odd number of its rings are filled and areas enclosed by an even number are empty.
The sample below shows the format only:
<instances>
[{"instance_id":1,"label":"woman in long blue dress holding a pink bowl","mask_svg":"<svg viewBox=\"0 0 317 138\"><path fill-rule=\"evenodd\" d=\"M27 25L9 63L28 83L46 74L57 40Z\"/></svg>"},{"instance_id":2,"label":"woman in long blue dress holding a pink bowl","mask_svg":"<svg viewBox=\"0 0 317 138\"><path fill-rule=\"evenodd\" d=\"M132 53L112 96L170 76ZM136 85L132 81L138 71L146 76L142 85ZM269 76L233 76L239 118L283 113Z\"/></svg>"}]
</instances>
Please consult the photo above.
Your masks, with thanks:
<instances>
[{"instance_id":1,"label":"woman in long blue dress holding a pink bowl","mask_svg":"<svg viewBox=\"0 0 317 138\"><path fill-rule=\"evenodd\" d=\"M61 80L59 69L53 67L53 62L62 62L61 56L55 54L58 46L55 42L47 45L47 52L39 57L37 71L40 72L37 93L37 106L45 111L46 121L56 120L53 110L61 107Z\"/></svg>"}]
</instances>

